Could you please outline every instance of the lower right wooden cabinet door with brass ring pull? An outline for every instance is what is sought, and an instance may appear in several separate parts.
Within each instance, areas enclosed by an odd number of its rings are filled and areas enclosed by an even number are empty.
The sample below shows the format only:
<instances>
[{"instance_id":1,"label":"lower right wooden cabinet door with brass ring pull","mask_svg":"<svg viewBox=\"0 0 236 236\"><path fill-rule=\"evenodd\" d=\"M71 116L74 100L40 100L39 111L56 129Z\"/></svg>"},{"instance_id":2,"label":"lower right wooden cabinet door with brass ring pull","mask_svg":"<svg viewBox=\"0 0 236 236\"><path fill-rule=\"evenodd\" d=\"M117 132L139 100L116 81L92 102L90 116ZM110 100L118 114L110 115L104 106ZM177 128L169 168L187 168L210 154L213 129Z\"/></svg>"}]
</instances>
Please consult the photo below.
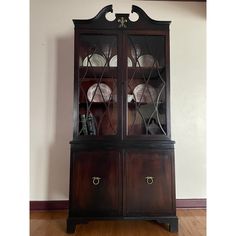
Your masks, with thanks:
<instances>
[{"instance_id":1,"label":"lower right wooden cabinet door with brass ring pull","mask_svg":"<svg viewBox=\"0 0 236 236\"><path fill-rule=\"evenodd\" d=\"M172 150L125 152L126 216L175 214Z\"/></svg>"}]
</instances>

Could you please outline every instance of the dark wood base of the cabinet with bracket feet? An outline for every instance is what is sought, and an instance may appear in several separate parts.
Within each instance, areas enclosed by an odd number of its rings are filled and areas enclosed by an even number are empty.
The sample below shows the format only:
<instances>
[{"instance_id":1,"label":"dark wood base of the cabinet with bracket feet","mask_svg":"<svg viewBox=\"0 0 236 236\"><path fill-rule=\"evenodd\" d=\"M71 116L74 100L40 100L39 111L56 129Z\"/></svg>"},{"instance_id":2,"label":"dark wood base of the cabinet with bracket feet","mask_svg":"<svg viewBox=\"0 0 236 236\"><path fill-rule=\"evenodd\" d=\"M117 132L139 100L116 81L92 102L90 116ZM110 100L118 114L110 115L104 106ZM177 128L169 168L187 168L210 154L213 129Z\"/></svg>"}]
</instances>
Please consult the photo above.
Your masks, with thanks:
<instances>
[{"instance_id":1,"label":"dark wood base of the cabinet with bracket feet","mask_svg":"<svg viewBox=\"0 0 236 236\"><path fill-rule=\"evenodd\" d=\"M178 232L178 218L176 216L160 216L160 217L69 217L67 219L67 233L73 234L77 224L87 224L92 220L150 220L156 221L158 224L164 224L170 232Z\"/></svg>"}]
</instances>

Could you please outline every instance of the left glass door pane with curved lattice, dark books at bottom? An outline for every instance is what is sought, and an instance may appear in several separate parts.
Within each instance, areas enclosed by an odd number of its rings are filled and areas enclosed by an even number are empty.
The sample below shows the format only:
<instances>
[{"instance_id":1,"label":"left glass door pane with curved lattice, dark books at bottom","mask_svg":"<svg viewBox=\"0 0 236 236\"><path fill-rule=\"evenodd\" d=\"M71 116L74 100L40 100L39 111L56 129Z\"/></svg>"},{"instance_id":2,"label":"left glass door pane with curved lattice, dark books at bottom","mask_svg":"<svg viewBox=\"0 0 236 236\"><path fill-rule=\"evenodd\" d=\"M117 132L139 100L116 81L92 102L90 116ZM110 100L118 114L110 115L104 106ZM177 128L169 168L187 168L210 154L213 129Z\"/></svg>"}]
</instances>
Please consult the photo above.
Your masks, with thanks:
<instances>
[{"instance_id":1,"label":"left glass door pane with curved lattice, dark books at bottom","mask_svg":"<svg viewBox=\"0 0 236 236\"><path fill-rule=\"evenodd\" d=\"M116 135L117 38L82 35L79 55L79 134Z\"/></svg>"}]
</instances>

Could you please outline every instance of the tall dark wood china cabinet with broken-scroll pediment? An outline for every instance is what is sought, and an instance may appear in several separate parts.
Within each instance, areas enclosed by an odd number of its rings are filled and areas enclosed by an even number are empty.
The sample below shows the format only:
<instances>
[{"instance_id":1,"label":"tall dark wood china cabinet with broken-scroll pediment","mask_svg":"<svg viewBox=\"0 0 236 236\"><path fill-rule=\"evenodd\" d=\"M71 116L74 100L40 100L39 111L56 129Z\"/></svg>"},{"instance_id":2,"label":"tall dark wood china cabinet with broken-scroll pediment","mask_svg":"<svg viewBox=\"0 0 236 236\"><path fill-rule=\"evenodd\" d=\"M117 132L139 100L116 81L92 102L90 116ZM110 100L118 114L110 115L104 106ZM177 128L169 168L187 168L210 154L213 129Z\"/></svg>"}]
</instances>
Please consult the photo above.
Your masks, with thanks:
<instances>
[{"instance_id":1,"label":"tall dark wood china cabinet with broken-scroll pediment","mask_svg":"<svg viewBox=\"0 0 236 236\"><path fill-rule=\"evenodd\" d=\"M73 20L74 114L67 232L98 219L145 219L178 230L170 129L169 21L137 6Z\"/></svg>"}]
</instances>

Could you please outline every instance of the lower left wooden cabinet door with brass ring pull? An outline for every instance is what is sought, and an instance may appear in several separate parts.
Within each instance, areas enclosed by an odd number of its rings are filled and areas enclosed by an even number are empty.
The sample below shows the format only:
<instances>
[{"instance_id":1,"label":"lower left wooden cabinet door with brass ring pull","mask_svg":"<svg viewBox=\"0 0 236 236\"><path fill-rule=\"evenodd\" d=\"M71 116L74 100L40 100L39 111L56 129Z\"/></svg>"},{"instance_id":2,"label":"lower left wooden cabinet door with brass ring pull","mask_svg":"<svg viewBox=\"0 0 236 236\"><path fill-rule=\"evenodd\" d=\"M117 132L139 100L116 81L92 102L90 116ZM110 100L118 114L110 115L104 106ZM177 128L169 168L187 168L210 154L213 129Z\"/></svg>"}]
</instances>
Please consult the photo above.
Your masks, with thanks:
<instances>
[{"instance_id":1,"label":"lower left wooden cabinet door with brass ring pull","mask_svg":"<svg viewBox=\"0 0 236 236\"><path fill-rule=\"evenodd\" d=\"M72 151L70 214L119 215L120 155L117 151Z\"/></svg>"}]
</instances>

